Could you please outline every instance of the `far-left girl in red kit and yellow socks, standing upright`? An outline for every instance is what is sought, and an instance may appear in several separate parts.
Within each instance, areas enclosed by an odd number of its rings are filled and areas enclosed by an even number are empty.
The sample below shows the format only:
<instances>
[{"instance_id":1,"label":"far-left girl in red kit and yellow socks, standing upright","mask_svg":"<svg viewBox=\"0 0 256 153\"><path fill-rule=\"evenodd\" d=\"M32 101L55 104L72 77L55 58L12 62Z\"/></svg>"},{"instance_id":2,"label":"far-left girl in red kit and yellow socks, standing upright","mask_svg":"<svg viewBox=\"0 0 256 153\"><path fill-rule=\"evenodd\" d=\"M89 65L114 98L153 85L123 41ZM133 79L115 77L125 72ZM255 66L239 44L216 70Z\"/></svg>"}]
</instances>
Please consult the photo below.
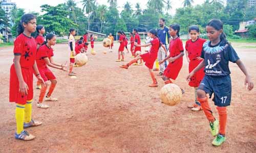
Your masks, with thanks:
<instances>
[{"instance_id":1,"label":"far-left girl in red kit and yellow socks, standing upright","mask_svg":"<svg viewBox=\"0 0 256 153\"><path fill-rule=\"evenodd\" d=\"M10 69L10 102L16 103L15 138L32 140L35 136L24 131L24 128L41 125L31 119L33 101L33 70L41 87L45 82L41 78L35 62L36 41L31 34L36 30L36 16L24 14L18 24L18 37L14 41L14 64Z\"/></svg>"}]
</instances>

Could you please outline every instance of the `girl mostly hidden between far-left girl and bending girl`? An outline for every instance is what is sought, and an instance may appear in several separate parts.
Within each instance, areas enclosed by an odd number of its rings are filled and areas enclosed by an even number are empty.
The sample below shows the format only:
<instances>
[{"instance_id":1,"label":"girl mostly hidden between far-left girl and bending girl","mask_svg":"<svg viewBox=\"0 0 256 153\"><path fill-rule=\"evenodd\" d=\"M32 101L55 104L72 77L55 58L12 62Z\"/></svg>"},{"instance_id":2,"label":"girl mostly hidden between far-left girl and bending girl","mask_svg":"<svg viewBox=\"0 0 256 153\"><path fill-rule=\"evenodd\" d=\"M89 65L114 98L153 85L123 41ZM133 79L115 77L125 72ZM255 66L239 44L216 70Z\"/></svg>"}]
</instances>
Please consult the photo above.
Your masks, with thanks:
<instances>
[{"instance_id":1,"label":"girl mostly hidden between far-left girl and bending girl","mask_svg":"<svg viewBox=\"0 0 256 153\"><path fill-rule=\"evenodd\" d=\"M45 27L43 25L36 26L36 37L35 41L37 43L37 49L40 47L42 43L45 42L44 34L46 33ZM41 85L39 82L36 83L36 89L41 89Z\"/></svg>"}]
</instances>

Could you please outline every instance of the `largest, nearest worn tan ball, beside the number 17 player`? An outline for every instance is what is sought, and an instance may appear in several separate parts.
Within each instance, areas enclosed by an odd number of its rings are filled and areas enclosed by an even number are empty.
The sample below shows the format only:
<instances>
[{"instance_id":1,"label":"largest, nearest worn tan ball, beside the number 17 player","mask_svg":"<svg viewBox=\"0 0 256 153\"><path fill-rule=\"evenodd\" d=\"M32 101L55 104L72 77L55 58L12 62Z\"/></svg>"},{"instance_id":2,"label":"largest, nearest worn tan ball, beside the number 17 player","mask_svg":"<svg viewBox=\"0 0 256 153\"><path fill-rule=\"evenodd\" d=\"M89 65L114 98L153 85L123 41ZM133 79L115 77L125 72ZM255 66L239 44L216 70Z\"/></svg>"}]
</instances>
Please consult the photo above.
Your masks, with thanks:
<instances>
[{"instance_id":1,"label":"largest, nearest worn tan ball, beside the number 17 player","mask_svg":"<svg viewBox=\"0 0 256 153\"><path fill-rule=\"evenodd\" d=\"M180 103L182 91L175 84L167 84L160 90L160 98L162 102L168 106L174 106Z\"/></svg>"}]
</instances>

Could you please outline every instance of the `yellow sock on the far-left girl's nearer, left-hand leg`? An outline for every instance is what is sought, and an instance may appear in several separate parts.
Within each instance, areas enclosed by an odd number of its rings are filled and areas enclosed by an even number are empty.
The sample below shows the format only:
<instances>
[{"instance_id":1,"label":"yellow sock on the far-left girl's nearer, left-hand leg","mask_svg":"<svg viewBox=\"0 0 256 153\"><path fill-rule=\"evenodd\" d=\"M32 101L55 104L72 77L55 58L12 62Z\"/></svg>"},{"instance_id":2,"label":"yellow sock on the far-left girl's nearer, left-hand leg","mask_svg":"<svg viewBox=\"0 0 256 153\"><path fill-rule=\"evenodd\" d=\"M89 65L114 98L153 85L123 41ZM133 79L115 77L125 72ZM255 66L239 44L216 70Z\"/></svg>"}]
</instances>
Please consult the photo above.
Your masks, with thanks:
<instances>
[{"instance_id":1,"label":"yellow sock on the far-left girl's nearer, left-hand leg","mask_svg":"<svg viewBox=\"0 0 256 153\"><path fill-rule=\"evenodd\" d=\"M16 105L16 113L15 113L15 117L16 117L16 126L17 126L17 134L22 133L23 129L23 125L24 125L24 116L25 116L25 105L20 105L17 104Z\"/></svg>"}]
</instances>

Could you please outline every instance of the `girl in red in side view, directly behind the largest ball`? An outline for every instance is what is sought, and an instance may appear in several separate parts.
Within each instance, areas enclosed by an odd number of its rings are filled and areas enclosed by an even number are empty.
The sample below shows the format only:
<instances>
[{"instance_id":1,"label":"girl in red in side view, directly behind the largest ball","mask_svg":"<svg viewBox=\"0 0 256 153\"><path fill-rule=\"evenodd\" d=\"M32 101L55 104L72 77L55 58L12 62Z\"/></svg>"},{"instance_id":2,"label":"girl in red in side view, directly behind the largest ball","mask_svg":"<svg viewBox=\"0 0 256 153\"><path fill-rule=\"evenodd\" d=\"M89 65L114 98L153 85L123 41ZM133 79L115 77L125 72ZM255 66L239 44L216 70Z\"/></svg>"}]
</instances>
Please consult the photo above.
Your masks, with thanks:
<instances>
[{"instance_id":1,"label":"girl in red in side view, directly behind the largest ball","mask_svg":"<svg viewBox=\"0 0 256 153\"><path fill-rule=\"evenodd\" d=\"M164 61L168 60L169 64L165 68L163 73L163 81L165 84L173 83L170 79L176 80L178 74L181 70L183 64L183 56L184 56L184 49L183 44L180 39L180 25L179 24L171 24L169 26L169 34L173 37L172 41L169 44L169 52L170 54L159 64L162 64ZM182 93L184 90L182 89Z\"/></svg>"}]
</instances>

